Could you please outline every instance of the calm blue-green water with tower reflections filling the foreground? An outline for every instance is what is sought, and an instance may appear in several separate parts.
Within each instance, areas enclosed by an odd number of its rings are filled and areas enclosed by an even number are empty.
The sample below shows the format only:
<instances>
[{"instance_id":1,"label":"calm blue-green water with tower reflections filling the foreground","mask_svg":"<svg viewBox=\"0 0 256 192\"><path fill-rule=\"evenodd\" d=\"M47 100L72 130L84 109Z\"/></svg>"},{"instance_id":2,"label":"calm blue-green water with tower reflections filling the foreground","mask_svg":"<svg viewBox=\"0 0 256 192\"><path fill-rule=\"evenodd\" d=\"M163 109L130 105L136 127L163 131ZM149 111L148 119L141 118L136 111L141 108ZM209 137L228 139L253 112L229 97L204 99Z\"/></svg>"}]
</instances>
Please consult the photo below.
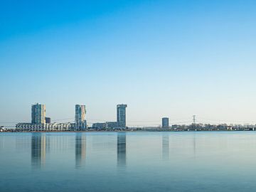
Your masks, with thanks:
<instances>
[{"instance_id":1,"label":"calm blue-green water with tower reflections filling the foreground","mask_svg":"<svg viewBox=\"0 0 256 192\"><path fill-rule=\"evenodd\" d=\"M0 191L255 191L256 132L4 133Z\"/></svg>"}]
</instances>

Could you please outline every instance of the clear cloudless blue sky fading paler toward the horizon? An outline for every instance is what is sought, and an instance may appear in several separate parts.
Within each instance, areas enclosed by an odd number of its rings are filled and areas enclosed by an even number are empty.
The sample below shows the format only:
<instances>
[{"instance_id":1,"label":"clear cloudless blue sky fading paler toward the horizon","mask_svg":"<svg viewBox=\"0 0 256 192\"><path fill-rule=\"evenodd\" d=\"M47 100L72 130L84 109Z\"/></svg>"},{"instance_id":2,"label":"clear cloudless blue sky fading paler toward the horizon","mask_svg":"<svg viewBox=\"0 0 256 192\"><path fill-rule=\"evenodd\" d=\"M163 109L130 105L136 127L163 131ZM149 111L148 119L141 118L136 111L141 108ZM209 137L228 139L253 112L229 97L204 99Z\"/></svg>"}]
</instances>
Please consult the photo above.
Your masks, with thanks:
<instances>
[{"instance_id":1,"label":"clear cloudless blue sky fading paler toward the horizon","mask_svg":"<svg viewBox=\"0 0 256 192\"><path fill-rule=\"evenodd\" d=\"M256 122L256 1L1 1L0 124ZM181 120L178 120L181 119ZM213 122L213 121L212 121Z\"/></svg>"}]
</instances>

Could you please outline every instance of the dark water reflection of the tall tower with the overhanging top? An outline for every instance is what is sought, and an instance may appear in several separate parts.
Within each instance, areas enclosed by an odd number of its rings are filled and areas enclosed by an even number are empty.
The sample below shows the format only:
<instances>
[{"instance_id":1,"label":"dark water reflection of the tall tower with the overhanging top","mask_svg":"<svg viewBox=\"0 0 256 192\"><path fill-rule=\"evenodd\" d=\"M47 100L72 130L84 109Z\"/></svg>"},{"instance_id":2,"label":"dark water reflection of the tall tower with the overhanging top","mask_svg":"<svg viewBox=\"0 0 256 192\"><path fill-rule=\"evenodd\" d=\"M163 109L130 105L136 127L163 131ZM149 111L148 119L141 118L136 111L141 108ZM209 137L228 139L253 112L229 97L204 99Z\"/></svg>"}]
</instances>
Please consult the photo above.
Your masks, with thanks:
<instances>
[{"instance_id":1,"label":"dark water reflection of the tall tower with the overhanging top","mask_svg":"<svg viewBox=\"0 0 256 192\"><path fill-rule=\"evenodd\" d=\"M126 133L117 134L117 166L126 166Z\"/></svg>"}]
</instances>

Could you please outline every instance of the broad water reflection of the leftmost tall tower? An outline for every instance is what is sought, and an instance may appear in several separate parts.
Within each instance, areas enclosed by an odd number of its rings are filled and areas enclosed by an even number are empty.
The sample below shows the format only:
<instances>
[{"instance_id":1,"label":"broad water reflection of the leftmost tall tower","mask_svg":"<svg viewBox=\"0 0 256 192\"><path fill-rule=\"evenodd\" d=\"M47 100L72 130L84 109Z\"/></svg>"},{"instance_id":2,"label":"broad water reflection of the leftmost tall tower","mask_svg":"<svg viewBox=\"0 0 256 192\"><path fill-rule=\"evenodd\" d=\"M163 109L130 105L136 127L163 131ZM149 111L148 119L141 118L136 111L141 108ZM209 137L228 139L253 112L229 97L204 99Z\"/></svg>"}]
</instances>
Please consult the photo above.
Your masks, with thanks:
<instances>
[{"instance_id":1,"label":"broad water reflection of the leftmost tall tower","mask_svg":"<svg viewBox=\"0 0 256 192\"><path fill-rule=\"evenodd\" d=\"M46 134L33 133L31 136L31 166L40 168L46 161L46 149L49 149Z\"/></svg>"}]
</instances>

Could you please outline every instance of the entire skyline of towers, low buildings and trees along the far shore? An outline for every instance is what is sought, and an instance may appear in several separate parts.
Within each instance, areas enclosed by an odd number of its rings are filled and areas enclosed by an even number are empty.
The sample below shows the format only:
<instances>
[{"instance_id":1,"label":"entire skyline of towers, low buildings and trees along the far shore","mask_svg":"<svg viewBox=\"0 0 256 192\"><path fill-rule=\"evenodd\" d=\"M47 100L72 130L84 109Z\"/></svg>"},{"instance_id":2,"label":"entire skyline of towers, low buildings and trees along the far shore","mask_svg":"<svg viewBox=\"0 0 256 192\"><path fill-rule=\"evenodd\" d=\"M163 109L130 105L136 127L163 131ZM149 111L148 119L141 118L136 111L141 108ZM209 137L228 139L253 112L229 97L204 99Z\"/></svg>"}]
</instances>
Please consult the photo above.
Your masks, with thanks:
<instances>
[{"instance_id":1,"label":"entire skyline of towers, low buildings and trees along the far shore","mask_svg":"<svg viewBox=\"0 0 256 192\"><path fill-rule=\"evenodd\" d=\"M132 129L151 129L151 130L255 130L256 122L240 122L228 123L227 121L218 119L203 119L193 115L193 119L171 119L169 117L162 117L161 123L157 121L135 121L144 122L144 124L126 124L126 104L117 105L116 121L107 121L104 119L86 119L85 105L75 105L75 117L69 119L53 119L51 122L50 117L46 117L46 105L33 104L31 107L31 123L29 122L16 122L16 125L1 126L1 129L14 128L18 131L85 131L87 130L132 130ZM89 122L87 122L89 120ZM179 121L179 122L177 122ZM207 122L208 121L208 122ZM155 124L153 124L153 122ZM218 122L218 123L216 123ZM15 122L12 122L15 123ZM151 123L151 124L146 124ZM3 124L3 123L2 123ZM1 130L3 131L3 130Z\"/></svg>"}]
</instances>

